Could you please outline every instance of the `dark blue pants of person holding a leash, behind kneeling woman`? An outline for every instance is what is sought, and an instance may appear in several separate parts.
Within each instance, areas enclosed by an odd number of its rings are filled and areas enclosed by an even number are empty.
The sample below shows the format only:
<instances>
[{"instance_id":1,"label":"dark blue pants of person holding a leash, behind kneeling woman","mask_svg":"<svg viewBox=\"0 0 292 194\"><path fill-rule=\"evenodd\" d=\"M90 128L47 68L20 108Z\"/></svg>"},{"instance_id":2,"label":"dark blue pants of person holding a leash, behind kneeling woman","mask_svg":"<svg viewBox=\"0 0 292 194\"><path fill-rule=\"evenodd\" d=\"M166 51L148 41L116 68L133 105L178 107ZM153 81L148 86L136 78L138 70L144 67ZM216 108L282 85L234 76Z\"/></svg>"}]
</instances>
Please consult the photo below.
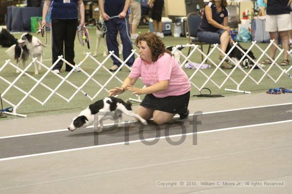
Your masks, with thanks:
<instances>
[{"instance_id":1,"label":"dark blue pants of person holding a leash, behind kneeling woman","mask_svg":"<svg viewBox=\"0 0 292 194\"><path fill-rule=\"evenodd\" d=\"M126 20L128 22L128 17L126 17ZM107 46L108 46L108 51L114 51L114 54L120 58L119 56L119 47L117 43L117 34L118 31L120 32L122 44L123 44L123 58L124 61L128 58L128 56L131 54L131 50L133 49L132 43L130 42L127 34L127 29L126 29L126 20L125 19L120 19L120 18L112 18L108 21L106 21L106 26L107 26ZM128 22L129 23L129 22ZM127 23L128 26L128 32L130 32L129 24ZM114 58L113 56L110 57L113 61L113 65L122 65L119 60ZM127 65L132 66L135 60L135 56L132 55L131 58L128 60Z\"/></svg>"}]
</instances>

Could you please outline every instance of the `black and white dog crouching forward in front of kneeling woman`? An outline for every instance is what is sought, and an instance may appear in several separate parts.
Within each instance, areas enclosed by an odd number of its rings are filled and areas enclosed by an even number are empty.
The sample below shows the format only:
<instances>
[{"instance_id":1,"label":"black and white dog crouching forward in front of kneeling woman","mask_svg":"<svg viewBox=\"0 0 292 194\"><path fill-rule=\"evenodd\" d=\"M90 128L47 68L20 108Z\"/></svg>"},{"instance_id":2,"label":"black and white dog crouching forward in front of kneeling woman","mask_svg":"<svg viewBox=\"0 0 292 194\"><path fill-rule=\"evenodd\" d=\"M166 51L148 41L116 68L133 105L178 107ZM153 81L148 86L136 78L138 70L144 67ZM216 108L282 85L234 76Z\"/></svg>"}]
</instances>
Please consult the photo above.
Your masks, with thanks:
<instances>
[{"instance_id":1,"label":"black and white dog crouching forward in front of kneeling woman","mask_svg":"<svg viewBox=\"0 0 292 194\"><path fill-rule=\"evenodd\" d=\"M78 128L86 128L93 124L94 116L98 116L97 119L100 124L98 132L101 132L103 129L102 120L114 119L110 113L114 113L118 117L118 126L121 126L122 113L125 113L128 116L136 117L142 124L147 125L147 121L145 119L132 112L132 104L130 101L124 102L120 98L105 97L104 99L98 100L89 105L85 110L81 111L77 117L74 117L68 129L73 131Z\"/></svg>"}]
</instances>

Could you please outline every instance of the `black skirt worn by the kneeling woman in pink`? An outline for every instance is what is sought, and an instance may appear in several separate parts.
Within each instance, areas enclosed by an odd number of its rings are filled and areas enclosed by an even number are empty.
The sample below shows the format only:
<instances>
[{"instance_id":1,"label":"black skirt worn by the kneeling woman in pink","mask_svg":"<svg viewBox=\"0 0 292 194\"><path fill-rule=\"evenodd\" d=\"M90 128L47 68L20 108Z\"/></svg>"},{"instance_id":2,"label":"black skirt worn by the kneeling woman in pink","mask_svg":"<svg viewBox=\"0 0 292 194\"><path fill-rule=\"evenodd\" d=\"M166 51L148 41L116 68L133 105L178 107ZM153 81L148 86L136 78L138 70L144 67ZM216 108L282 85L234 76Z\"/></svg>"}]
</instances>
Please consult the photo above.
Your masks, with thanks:
<instances>
[{"instance_id":1,"label":"black skirt worn by the kneeling woman in pink","mask_svg":"<svg viewBox=\"0 0 292 194\"><path fill-rule=\"evenodd\" d=\"M190 92L180 96L155 97L147 94L140 106L166 113L183 113L186 111L190 100Z\"/></svg>"}]
</instances>

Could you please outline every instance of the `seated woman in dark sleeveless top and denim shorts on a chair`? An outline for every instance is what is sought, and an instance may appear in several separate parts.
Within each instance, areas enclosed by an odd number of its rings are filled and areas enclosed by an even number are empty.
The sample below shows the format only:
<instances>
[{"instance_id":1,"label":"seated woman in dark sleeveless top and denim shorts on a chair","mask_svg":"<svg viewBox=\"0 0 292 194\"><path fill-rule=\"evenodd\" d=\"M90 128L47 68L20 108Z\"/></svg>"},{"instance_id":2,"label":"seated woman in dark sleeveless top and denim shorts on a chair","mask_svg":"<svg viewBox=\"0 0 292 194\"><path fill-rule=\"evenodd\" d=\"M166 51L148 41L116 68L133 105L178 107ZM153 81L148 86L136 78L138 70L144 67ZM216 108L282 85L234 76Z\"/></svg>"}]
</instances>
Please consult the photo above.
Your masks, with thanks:
<instances>
[{"instance_id":1,"label":"seated woman in dark sleeveless top and denim shorts on a chair","mask_svg":"<svg viewBox=\"0 0 292 194\"><path fill-rule=\"evenodd\" d=\"M220 44L220 49L225 52L228 44L233 40L230 36L231 29L228 26L228 10L226 9L226 0L211 0L205 5L205 12L198 29L198 38L201 42L208 44ZM219 54L219 59L224 55ZM227 61L224 61L221 67L230 69Z\"/></svg>"}]
</instances>

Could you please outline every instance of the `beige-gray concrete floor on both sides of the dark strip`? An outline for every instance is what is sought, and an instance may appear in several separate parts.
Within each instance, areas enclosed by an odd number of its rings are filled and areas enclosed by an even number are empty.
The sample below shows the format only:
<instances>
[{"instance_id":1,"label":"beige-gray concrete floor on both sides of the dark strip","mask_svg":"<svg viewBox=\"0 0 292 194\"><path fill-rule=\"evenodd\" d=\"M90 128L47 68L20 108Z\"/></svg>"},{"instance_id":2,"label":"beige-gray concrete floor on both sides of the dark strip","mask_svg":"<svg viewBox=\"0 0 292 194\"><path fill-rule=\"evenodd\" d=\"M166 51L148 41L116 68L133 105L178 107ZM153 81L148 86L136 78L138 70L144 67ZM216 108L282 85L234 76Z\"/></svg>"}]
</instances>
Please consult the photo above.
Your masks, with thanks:
<instances>
[{"instance_id":1,"label":"beige-gray concrete floor on both sides of the dark strip","mask_svg":"<svg viewBox=\"0 0 292 194\"><path fill-rule=\"evenodd\" d=\"M193 100L189 109L213 112L291 103L291 99L292 94L238 95ZM0 137L66 129L77 114L0 121ZM0 161L0 194L290 194L291 129L287 122L201 133L197 145L188 135L178 146L160 139L152 146L137 142ZM156 186L156 181L175 180L281 180L285 187Z\"/></svg>"}]
</instances>

